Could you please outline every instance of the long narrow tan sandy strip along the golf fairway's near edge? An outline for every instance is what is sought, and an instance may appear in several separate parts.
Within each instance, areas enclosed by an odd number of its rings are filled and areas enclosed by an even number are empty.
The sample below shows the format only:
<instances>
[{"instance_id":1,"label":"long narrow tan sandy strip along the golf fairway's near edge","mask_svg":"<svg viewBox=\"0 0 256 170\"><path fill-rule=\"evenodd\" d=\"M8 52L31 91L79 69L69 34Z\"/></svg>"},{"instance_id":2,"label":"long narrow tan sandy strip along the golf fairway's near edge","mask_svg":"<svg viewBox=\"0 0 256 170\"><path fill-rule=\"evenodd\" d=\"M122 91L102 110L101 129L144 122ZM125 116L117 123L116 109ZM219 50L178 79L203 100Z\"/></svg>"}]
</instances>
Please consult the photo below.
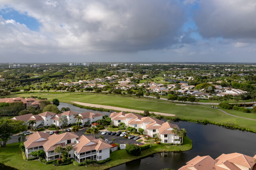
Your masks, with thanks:
<instances>
[{"instance_id":1,"label":"long narrow tan sandy strip along the golf fairway's near edge","mask_svg":"<svg viewBox=\"0 0 256 170\"><path fill-rule=\"evenodd\" d=\"M127 109L127 108L120 108L120 107L115 107L115 106L106 106L106 105L83 103L83 102L76 102L76 101L71 101L71 102L80 104L82 106L89 106L89 107L95 107L95 108L120 110L120 111L124 111L124 112L144 113L144 110ZM152 112L150 112L150 113L152 113ZM153 113L155 113L156 115L162 115L162 116L175 116L174 114L171 114L171 113L161 113L161 112L153 112Z\"/></svg>"}]
</instances>

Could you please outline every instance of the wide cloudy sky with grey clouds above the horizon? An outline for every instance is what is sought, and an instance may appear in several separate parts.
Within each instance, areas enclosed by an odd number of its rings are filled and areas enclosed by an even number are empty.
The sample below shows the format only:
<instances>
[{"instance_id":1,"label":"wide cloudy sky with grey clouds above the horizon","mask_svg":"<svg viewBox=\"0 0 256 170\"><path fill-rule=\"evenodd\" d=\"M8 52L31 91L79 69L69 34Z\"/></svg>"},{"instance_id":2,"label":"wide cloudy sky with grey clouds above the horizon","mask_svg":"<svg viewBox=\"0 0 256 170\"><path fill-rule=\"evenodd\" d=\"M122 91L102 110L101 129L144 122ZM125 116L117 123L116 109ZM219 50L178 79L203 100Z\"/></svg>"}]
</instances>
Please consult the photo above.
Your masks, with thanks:
<instances>
[{"instance_id":1,"label":"wide cloudy sky with grey clouds above the horizon","mask_svg":"<svg viewBox=\"0 0 256 170\"><path fill-rule=\"evenodd\" d=\"M0 62L256 62L255 0L0 0Z\"/></svg>"}]
</instances>

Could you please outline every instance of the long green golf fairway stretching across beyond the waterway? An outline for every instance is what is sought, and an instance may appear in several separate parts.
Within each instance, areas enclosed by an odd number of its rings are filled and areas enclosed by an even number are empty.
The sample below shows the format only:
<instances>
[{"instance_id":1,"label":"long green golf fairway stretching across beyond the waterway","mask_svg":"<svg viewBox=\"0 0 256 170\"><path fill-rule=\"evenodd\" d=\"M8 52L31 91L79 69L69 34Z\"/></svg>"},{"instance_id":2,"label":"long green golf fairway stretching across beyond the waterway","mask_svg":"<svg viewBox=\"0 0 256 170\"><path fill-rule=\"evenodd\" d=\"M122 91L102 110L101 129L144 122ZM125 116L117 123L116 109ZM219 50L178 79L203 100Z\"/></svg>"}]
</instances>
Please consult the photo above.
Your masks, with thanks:
<instances>
[{"instance_id":1,"label":"long green golf fairway stretching across beyond the waterway","mask_svg":"<svg viewBox=\"0 0 256 170\"><path fill-rule=\"evenodd\" d=\"M36 95L38 97L47 97L48 99L59 99L60 102L78 101L91 104L102 104L106 106L116 106L121 108L129 108L135 110L148 110L150 112L163 112L163 113L172 113L176 117L182 119L197 119L204 120L207 119L211 122L219 122L224 124L236 124L243 128L251 128L256 130L256 122L248 119L242 119L239 117L233 117L226 115L223 112L207 107L200 107L196 105L176 105L175 103L169 101L157 101L152 99L139 99L133 97L121 97L116 95L96 95L95 93L17 93L13 95L8 95L9 97L29 97L31 95ZM205 106L205 105L203 105ZM210 106L210 105L209 105ZM226 111L226 110L225 110ZM243 113L235 110L228 110L230 114L240 114L241 117L252 118L255 113ZM256 118L254 118L256 119Z\"/></svg>"}]
</instances>

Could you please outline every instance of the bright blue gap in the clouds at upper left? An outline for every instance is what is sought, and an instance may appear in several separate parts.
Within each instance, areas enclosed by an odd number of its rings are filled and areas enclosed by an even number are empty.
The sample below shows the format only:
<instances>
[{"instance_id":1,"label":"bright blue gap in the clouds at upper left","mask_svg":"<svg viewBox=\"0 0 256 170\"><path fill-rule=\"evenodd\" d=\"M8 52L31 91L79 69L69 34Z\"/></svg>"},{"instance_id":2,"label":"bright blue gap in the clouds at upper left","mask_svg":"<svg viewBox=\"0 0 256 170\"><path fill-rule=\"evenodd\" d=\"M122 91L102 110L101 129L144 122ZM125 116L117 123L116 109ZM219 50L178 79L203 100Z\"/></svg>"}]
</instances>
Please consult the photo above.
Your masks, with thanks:
<instances>
[{"instance_id":1,"label":"bright blue gap in the clouds at upper left","mask_svg":"<svg viewBox=\"0 0 256 170\"><path fill-rule=\"evenodd\" d=\"M38 22L38 20L35 18L26 15L26 13L25 15L20 14L18 11L12 8L1 9L0 15L2 15L5 20L13 19L20 24L25 24L32 31L39 31L39 27L41 26L40 22Z\"/></svg>"}]
</instances>

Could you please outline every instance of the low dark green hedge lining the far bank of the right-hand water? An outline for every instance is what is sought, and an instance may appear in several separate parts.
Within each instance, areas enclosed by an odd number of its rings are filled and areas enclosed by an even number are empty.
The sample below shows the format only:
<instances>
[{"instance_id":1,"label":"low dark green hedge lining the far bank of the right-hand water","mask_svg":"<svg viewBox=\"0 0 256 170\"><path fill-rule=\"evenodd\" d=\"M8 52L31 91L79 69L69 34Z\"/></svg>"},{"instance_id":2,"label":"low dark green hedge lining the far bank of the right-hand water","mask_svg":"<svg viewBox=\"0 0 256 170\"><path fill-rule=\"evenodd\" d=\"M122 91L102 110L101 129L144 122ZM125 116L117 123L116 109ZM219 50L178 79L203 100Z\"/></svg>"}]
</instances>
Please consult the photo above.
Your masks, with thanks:
<instances>
[{"instance_id":1,"label":"low dark green hedge lining the far bank of the right-hand water","mask_svg":"<svg viewBox=\"0 0 256 170\"><path fill-rule=\"evenodd\" d=\"M225 126L225 127L229 127L229 128L235 128L235 129L239 129L239 130L246 130L248 132L254 132L256 133L256 130L253 130L251 128L243 128L234 124L229 124L229 123L218 123L218 122L211 122L208 120L195 120L195 119L180 119L178 117L168 117L168 116L161 116L161 118L163 119L167 119L167 120L172 120L172 121L186 121L186 122L194 122L194 123L203 123L203 124L215 124L215 125L219 125L219 126Z\"/></svg>"}]
</instances>

